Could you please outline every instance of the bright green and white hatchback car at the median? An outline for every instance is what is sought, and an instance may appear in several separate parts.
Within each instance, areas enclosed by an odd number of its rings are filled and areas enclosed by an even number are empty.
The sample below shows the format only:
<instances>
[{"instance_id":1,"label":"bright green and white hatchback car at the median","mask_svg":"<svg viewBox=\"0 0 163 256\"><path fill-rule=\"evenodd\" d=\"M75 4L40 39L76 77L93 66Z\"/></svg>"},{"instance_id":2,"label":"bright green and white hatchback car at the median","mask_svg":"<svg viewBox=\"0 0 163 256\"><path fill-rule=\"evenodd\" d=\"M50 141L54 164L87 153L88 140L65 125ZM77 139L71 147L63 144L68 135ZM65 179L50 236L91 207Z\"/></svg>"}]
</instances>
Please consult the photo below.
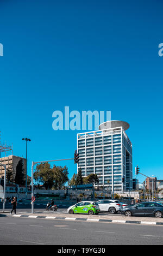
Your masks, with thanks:
<instances>
[{"instance_id":1,"label":"bright green and white hatchback car at the median","mask_svg":"<svg viewBox=\"0 0 163 256\"><path fill-rule=\"evenodd\" d=\"M67 209L67 212L70 214L74 213L87 213L89 215L96 214L100 212L99 205L94 201L82 201L75 205L70 206Z\"/></svg>"}]
</instances>

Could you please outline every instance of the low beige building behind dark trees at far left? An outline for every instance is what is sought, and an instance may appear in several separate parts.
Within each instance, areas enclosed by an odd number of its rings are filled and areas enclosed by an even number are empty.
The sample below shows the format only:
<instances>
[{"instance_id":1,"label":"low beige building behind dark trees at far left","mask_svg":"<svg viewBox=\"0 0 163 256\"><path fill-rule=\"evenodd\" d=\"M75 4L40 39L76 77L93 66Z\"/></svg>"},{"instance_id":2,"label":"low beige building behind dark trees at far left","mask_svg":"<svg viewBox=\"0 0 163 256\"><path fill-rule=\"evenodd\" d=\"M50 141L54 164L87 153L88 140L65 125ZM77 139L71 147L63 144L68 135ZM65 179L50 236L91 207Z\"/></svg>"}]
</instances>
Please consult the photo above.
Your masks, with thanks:
<instances>
[{"instance_id":1,"label":"low beige building behind dark trees at far left","mask_svg":"<svg viewBox=\"0 0 163 256\"><path fill-rule=\"evenodd\" d=\"M16 166L20 160L22 160L22 163L23 163L23 180L26 181L26 158L17 157L13 155L0 158L0 163L6 165L7 177L8 177L8 172L10 172L12 182L15 182ZM0 165L0 178L2 178L3 176L4 176L4 167L3 165Z\"/></svg>"}]
</instances>

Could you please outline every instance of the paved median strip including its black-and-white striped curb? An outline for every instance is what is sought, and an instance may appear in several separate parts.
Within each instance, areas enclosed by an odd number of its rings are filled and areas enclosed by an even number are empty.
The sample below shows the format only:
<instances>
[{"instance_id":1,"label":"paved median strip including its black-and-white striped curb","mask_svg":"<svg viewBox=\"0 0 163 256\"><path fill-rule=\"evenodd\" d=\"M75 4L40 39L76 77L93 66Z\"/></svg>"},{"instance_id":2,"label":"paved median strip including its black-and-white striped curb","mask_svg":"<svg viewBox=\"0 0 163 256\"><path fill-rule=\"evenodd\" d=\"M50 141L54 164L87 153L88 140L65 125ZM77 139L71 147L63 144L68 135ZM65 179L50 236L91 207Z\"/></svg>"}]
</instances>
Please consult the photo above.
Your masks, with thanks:
<instances>
[{"instance_id":1,"label":"paved median strip including its black-and-white striped curb","mask_svg":"<svg viewBox=\"0 0 163 256\"><path fill-rule=\"evenodd\" d=\"M45 219L65 219L68 221L96 221L96 222L112 222L112 223L133 223L133 224L154 224L163 225L163 218L155 217L127 217L120 214L117 215L69 215L66 213L47 212L47 213L22 213L13 217L29 217L29 218L45 218Z\"/></svg>"}]
</instances>

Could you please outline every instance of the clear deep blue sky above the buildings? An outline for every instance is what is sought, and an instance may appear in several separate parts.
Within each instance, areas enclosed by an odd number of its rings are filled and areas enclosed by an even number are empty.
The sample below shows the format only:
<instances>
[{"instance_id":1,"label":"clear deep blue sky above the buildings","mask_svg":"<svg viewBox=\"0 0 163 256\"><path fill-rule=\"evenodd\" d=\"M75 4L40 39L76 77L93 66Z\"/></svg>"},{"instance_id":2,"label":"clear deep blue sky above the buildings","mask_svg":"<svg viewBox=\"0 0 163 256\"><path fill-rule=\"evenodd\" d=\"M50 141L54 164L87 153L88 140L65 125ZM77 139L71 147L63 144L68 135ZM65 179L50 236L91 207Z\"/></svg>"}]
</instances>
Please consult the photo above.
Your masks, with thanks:
<instances>
[{"instance_id":1,"label":"clear deep blue sky above the buildings","mask_svg":"<svg viewBox=\"0 0 163 256\"><path fill-rule=\"evenodd\" d=\"M163 3L1 0L1 141L32 160L71 158L80 131L54 131L52 113L110 110L130 124L133 170L163 179ZM71 178L77 171L66 164ZM140 181L143 176L139 175Z\"/></svg>"}]
</instances>

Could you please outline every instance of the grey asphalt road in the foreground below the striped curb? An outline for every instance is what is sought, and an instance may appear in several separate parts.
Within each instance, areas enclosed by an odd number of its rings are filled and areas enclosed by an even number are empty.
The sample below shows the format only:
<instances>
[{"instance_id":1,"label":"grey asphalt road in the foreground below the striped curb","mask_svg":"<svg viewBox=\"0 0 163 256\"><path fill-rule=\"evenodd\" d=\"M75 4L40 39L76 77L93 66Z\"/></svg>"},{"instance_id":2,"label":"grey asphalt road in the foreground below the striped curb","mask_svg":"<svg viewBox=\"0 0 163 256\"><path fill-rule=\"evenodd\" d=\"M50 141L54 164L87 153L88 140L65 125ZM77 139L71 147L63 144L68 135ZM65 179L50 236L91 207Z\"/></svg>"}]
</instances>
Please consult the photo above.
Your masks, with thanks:
<instances>
[{"instance_id":1,"label":"grey asphalt road in the foreground below the striped curb","mask_svg":"<svg viewBox=\"0 0 163 256\"><path fill-rule=\"evenodd\" d=\"M162 245L160 226L0 215L0 245Z\"/></svg>"}]
</instances>

